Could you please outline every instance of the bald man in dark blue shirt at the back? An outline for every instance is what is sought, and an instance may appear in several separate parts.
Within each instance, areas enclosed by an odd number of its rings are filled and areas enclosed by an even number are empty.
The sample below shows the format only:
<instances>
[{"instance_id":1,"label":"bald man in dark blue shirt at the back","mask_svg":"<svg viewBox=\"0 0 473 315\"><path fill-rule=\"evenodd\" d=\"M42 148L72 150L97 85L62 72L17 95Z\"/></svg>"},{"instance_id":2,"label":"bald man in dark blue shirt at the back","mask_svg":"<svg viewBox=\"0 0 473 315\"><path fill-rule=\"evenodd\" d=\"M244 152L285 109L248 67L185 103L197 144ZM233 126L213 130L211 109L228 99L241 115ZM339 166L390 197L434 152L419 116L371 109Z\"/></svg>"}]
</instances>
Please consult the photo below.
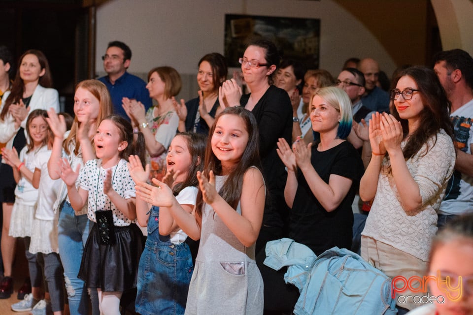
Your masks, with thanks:
<instances>
[{"instance_id":1,"label":"bald man in dark blue shirt at the back","mask_svg":"<svg viewBox=\"0 0 473 315\"><path fill-rule=\"evenodd\" d=\"M365 58L358 63L358 70L365 76L365 95L361 98L363 105L377 112L389 113L389 94L376 86L379 76L379 65L371 59Z\"/></svg>"}]
</instances>

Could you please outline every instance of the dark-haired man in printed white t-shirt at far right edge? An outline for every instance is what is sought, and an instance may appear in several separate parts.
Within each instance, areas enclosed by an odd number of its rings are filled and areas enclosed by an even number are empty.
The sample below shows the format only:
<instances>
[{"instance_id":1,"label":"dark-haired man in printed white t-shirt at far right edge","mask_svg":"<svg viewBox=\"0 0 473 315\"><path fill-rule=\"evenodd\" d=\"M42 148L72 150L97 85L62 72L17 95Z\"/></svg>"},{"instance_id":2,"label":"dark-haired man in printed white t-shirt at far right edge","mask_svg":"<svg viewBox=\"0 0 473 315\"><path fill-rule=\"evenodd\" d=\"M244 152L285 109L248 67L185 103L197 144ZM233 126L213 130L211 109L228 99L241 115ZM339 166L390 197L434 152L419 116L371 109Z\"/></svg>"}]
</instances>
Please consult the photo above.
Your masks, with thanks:
<instances>
[{"instance_id":1,"label":"dark-haired man in printed white t-shirt at far right edge","mask_svg":"<svg viewBox=\"0 0 473 315\"><path fill-rule=\"evenodd\" d=\"M457 151L455 171L438 212L437 226L441 228L459 215L473 213L473 58L464 50L453 49L437 53L434 64L451 102L450 118Z\"/></svg>"}]
</instances>

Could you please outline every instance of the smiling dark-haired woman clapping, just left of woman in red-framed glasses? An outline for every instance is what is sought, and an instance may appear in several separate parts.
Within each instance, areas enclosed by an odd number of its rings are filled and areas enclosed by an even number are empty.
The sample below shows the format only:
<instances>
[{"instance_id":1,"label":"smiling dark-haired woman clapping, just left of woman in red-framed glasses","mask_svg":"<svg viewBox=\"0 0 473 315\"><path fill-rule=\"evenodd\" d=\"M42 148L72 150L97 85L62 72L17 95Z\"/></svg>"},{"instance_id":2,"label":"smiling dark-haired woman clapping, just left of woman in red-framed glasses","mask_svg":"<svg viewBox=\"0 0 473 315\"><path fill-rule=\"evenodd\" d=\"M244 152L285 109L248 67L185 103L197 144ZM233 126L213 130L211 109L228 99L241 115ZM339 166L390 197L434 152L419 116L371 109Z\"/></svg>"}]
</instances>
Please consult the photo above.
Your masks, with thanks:
<instances>
[{"instance_id":1,"label":"smiling dark-haired woman clapping, just left of woman in red-framed glasses","mask_svg":"<svg viewBox=\"0 0 473 315\"><path fill-rule=\"evenodd\" d=\"M184 104L174 101L174 108L179 116L180 132L189 131L208 134L213 125L215 115L223 108L218 101L218 88L227 78L227 62L219 53L210 53L199 61L197 83L199 84L199 97L193 98Z\"/></svg>"}]
</instances>

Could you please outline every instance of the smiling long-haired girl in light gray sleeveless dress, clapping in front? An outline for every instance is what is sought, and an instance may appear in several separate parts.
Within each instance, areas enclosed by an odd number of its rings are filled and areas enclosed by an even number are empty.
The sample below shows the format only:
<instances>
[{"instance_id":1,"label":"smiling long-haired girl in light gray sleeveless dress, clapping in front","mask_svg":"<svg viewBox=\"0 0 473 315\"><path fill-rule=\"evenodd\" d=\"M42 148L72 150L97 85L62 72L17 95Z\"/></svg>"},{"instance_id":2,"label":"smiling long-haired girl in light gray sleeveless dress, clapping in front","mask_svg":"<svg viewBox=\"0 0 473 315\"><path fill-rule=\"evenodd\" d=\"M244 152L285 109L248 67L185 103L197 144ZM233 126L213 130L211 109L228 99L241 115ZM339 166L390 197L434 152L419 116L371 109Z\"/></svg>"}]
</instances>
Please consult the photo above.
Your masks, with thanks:
<instances>
[{"instance_id":1,"label":"smiling long-haired girl in light gray sleeveless dress, clapping in front","mask_svg":"<svg viewBox=\"0 0 473 315\"><path fill-rule=\"evenodd\" d=\"M258 168L258 148L254 115L243 107L228 107L210 129L192 214L179 206L164 183L154 181L158 186L154 189L136 188L144 200L167 207L189 237L201 240L186 315L263 314L263 279L255 263L255 243L266 188Z\"/></svg>"}]
</instances>

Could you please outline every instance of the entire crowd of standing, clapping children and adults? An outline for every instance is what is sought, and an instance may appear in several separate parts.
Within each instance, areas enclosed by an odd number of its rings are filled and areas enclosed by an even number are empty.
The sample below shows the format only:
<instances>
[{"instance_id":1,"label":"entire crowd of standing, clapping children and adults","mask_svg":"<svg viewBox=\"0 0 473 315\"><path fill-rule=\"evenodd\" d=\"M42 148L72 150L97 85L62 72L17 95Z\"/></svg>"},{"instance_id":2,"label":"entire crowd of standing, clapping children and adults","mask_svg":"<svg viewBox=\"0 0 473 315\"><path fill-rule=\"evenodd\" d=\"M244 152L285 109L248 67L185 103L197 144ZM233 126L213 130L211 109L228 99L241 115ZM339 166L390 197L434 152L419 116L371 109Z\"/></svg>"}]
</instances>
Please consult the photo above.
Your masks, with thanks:
<instances>
[{"instance_id":1,"label":"entire crowd of standing, clapping children and adults","mask_svg":"<svg viewBox=\"0 0 473 315\"><path fill-rule=\"evenodd\" d=\"M300 314L314 288L290 283L289 263L270 267L277 248L298 261L353 251L393 280L396 305L374 297L380 314L473 314L467 52L381 80L371 58L333 76L259 39L230 79L221 54L203 56L187 102L176 69L154 67L146 84L131 58L110 42L107 75L77 84L72 117L41 51L13 75L0 46L0 298L13 293L16 238L29 271L13 311ZM397 282L440 274L461 288L452 297L431 282L443 303Z\"/></svg>"}]
</instances>

